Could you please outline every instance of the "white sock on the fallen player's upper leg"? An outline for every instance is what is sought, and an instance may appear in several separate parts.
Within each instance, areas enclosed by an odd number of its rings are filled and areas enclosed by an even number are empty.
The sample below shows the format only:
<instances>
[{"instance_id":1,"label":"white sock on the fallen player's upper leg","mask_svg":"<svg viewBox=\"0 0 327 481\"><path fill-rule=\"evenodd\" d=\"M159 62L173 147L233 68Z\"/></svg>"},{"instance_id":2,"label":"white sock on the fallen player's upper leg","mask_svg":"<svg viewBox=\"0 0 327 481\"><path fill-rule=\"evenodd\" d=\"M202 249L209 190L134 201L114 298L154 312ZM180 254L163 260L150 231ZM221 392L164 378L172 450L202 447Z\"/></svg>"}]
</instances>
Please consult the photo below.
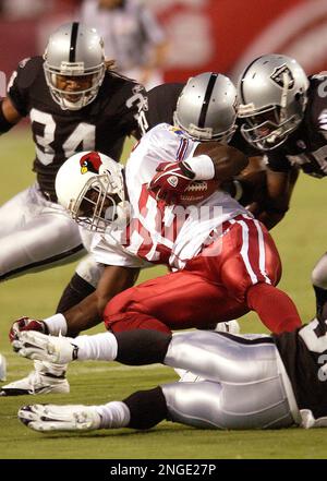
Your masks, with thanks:
<instances>
[{"instance_id":1,"label":"white sock on the fallen player's upper leg","mask_svg":"<svg viewBox=\"0 0 327 481\"><path fill-rule=\"evenodd\" d=\"M81 361L114 361L117 358L118 344L111 333L77 336L72 342L78 347L78 360Z\"/></svg>"}]
</instances>

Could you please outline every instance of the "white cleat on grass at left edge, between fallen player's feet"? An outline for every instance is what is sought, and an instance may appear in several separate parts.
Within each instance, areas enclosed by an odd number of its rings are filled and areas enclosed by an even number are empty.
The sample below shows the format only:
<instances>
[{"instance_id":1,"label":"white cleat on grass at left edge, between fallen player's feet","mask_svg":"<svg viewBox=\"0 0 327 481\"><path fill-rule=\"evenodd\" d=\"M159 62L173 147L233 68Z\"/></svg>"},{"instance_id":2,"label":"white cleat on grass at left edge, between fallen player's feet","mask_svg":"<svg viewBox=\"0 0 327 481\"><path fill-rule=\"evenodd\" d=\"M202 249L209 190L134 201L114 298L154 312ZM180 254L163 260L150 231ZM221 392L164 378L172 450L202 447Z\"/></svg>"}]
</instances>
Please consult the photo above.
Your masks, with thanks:
<instances>
[{"instance_id":1,"label":"white cleat on grass at left edge, between fallen player's feet","mask_svg":"<svg viewBox=\"0 0 327 481\"><path fill-rule=\"evenodd\" d=\"M0 396L24 396L36 394L66 394L70 385L64 374L55 376L53 374L41 374L32 371L26 377L13 381L0 388Z\"/></svg>"}]
</instances>

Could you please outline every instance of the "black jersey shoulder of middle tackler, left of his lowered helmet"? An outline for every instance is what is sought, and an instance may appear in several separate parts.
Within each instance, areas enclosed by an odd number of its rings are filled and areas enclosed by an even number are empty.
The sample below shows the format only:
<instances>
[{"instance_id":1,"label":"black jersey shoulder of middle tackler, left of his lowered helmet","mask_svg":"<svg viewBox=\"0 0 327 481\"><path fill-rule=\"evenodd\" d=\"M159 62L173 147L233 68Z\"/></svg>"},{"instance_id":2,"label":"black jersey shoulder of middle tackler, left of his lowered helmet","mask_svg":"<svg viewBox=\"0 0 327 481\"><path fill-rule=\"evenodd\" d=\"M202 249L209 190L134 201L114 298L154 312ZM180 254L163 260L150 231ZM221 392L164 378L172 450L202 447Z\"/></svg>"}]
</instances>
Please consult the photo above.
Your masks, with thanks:
<instances>
[{"instance_id":1,"label":"black jersey shoulder of middle tackler, left of his lowered helmet","mask_svg":"<svg viewBox=\"0 0 327 481\"><path fill-rule=\"evenodd\" d=\"M142 133L158 123L173 124L173 112L183 87L184 84L161 84L147 92L147 99L138 116Z\"/></svg>"}]
</instances>

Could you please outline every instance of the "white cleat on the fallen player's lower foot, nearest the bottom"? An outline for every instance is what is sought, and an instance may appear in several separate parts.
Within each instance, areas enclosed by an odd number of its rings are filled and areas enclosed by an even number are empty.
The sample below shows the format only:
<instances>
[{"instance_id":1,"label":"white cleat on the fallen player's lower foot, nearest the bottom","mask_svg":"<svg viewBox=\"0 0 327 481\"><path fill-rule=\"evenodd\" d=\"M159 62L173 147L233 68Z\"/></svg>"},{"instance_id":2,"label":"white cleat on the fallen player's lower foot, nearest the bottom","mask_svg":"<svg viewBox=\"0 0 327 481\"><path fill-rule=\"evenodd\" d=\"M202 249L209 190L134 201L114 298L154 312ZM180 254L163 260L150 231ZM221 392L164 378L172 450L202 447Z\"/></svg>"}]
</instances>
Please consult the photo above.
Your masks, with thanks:
<instances>
[{"instance_id":1,"label":"white cleat on the fallen player's lower foot, nearest the bottom","mask_svg":"<svg viewBox=\"0 0 327 481\"><path fill-rule=\"evenodd\" d=\"M34 431L90 431L100 428L101 417L93 406L31 405L19 410L19 419Z\"/></svg>"}]
</instances>

